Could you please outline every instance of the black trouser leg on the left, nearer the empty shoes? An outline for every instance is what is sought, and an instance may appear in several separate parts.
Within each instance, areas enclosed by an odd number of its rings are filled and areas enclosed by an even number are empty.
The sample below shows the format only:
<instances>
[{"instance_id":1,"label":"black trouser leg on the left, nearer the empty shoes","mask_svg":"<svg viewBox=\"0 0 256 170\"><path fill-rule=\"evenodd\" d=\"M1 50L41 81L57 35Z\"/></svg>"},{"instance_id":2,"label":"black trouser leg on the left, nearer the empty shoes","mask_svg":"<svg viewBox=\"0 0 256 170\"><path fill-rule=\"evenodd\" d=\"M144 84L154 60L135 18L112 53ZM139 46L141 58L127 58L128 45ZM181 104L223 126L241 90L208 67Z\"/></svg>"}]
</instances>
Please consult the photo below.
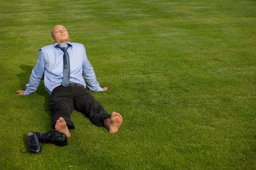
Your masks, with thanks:
<instances>
[{"instance_id":1,"label":"black trouser leg on the left, nearer the empty shoes","mask_svg":"<svg viewBox=\"0 0 256 170\"><path fill-rule=\"evenodd\" d=\"M74 110L73 98L70 87L57 88L52 91L49 101L49 108L52 112L52 128L55 128L56 121L62 117L67 123L69 129L74 129L75 126L70 119L70 114Z\"/></svg>"}]
</instances>

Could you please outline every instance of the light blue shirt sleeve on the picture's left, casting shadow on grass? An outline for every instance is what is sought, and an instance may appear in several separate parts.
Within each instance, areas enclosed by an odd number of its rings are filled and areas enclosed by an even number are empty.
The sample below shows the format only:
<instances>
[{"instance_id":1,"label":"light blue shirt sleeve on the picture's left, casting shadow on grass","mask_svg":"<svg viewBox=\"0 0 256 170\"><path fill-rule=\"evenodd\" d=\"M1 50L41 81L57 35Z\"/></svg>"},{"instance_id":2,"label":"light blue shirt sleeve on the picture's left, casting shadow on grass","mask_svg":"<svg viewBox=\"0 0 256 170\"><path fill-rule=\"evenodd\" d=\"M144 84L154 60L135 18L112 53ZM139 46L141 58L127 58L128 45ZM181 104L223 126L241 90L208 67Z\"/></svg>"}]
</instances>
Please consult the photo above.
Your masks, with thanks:
<instances>
[{"instance_id":1,"label":"light blue shirt sleeve on the picture's left, casting shadow on grass","mask_svg":"<svg viewBox=\"0 0 256 170\"><path fill-rule=\"evenodd\" d=\"M45 69L45 57L44 52L40 49L38 60L36 62L35 68L33 68L32 73L29 77L29 83L26 85L26 90L23 95L28 95L34 93L38 85L40 85L41 80L44 79L44 69Z\"/></svg>"}]
</instances>

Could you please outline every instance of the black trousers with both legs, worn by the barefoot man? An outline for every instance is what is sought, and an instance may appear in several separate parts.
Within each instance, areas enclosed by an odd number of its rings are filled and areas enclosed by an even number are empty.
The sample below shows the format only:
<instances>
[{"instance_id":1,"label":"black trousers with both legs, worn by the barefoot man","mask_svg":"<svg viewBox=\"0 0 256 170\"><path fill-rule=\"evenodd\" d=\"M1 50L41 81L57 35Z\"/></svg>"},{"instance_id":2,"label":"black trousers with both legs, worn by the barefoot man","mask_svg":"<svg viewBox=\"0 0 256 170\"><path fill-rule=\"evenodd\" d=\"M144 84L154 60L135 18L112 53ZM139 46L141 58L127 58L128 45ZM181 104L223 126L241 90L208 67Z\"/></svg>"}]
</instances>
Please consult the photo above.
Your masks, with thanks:
<instances>
[{"instance_id":1,"label":"black trousers with both legs, worn by the barefoot man","mask_svg":"<svg viewBox=\"0 0 256 170\"><path fill-rule=\"evenodd\" d=\"M92 123L97 126L104 126L104 119L111 118L111 115L104 110L102 105L82 86L53 89L49 108L52 112L51 125L53 129L59 117L64 118L69 129L74 129L75 126L70 119L70 114L74 109L88 116Z\"/></svg>"}]
</instances>

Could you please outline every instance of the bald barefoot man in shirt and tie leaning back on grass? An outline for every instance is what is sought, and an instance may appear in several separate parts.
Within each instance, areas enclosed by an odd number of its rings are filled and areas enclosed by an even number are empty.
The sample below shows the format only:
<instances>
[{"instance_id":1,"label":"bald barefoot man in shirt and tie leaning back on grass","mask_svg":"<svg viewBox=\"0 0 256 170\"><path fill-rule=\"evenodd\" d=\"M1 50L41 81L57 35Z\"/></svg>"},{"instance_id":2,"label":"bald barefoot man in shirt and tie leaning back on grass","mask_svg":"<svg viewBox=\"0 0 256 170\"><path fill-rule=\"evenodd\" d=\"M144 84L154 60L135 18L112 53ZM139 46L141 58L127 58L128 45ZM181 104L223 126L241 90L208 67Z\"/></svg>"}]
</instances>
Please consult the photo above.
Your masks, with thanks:
<instances>
[{"instance_id":1,"label":"bald barefoot man in shirt and tie leaning back on grass","mask_svg":"<svg viewBox=\"0 0 256 170\"><path fill-rule=\"evenodd\" d=\"M49 108L52 112L52 127L70 137L68 129L75 126L70 119L73 110L89 116L93 124L105 126L110 133L118 131L122 116L113 112L108 114L102 105L85 90L106 91L97 82L93 67L87 59L84 45L69 42L67 29L57 25L52 29L53 45L39 50L38 61L26 85L26 90L16 91L18 95L35 92L44 79L44 86L51 95Z\"/></svg>"}]
</instances>

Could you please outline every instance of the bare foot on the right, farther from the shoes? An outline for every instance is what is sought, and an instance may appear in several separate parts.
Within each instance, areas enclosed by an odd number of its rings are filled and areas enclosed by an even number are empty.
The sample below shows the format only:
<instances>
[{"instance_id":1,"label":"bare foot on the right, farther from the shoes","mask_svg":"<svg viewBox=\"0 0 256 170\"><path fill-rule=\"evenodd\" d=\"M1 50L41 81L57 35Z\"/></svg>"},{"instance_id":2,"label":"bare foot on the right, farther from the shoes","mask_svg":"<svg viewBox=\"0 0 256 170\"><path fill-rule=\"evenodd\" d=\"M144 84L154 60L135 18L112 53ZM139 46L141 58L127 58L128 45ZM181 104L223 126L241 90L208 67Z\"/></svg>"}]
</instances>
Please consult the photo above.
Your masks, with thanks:
<instances>
[{"instance_id":1,"label":"bare foot on the right, farther from the shoes","mask_svg":"<svg viewBox=\"0 0 256 170\"><path fill-rule=\"evenodd\" d=\"M119 113L113 112L111 119L105 119L105 127L109 129L110 133L116 133L122 124L122 116Z\"/></svg>"}]
</instances>

